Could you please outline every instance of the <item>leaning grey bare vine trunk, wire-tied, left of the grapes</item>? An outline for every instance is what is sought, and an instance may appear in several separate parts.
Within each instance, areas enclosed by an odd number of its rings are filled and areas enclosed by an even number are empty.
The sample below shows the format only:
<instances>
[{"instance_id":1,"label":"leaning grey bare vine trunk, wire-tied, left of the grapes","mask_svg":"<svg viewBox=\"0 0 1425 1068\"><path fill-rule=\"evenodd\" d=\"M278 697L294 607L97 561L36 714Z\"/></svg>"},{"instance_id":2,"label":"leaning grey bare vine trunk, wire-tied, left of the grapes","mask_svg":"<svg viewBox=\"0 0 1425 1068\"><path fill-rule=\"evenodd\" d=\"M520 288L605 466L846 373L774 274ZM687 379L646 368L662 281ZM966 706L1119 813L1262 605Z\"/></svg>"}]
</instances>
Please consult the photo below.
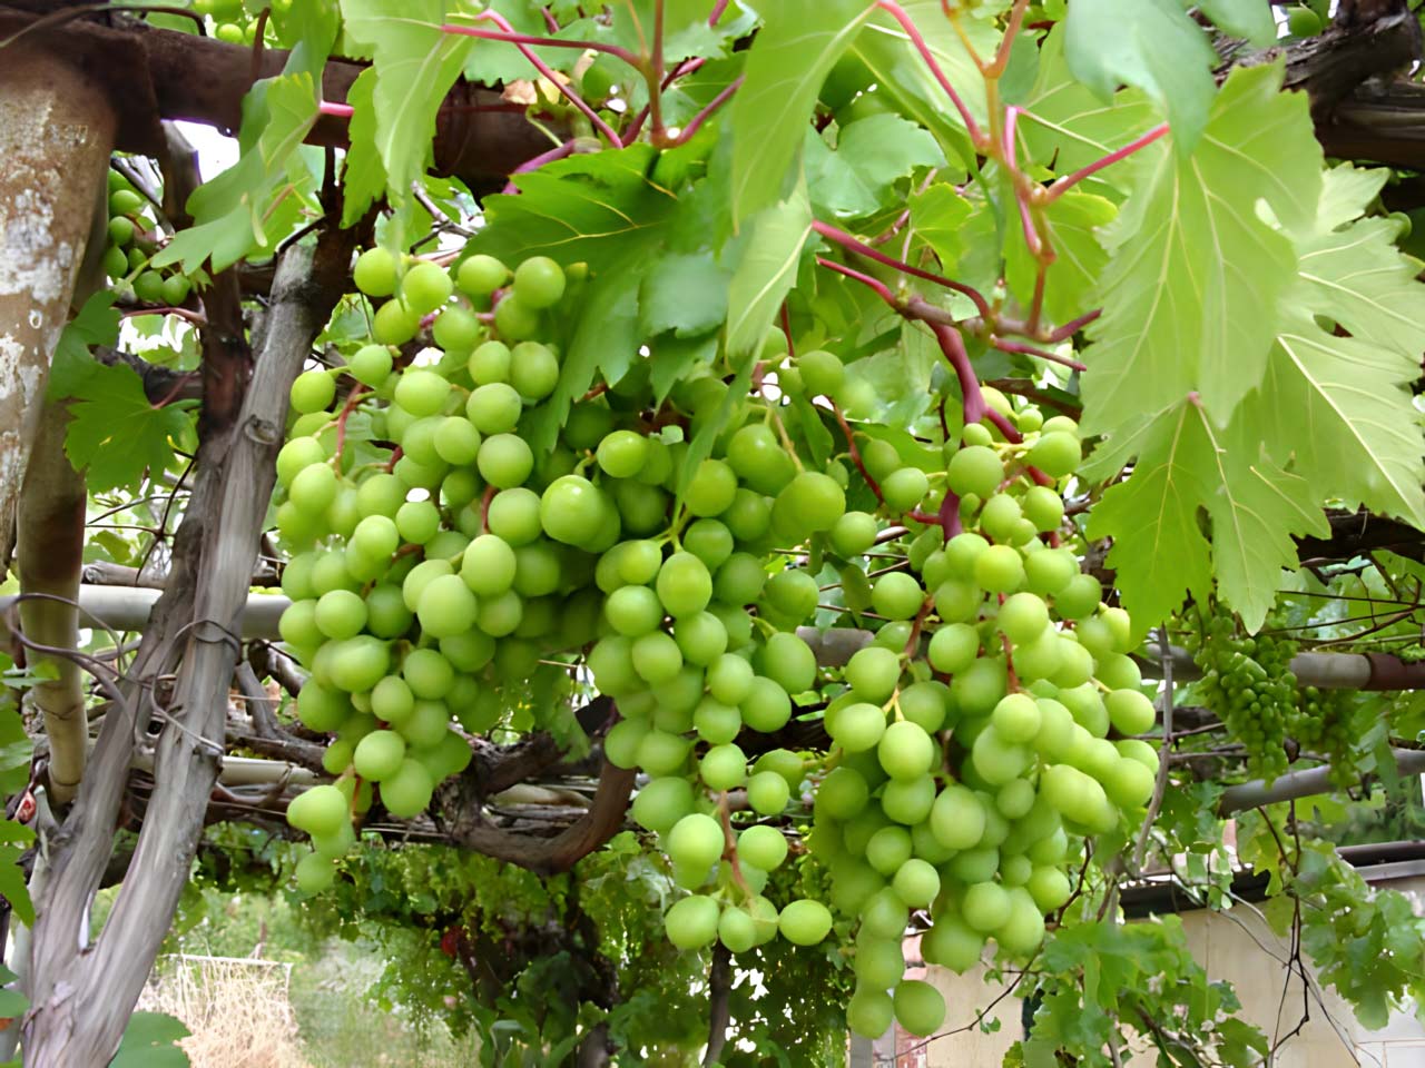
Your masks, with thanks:
<instances>
[{"instance_id":1,"label":"leaning grey bare vine trunk, wire-tied, left of the grapes","mask_svg":"<svg viewBox=\"0 0 1425 1068\"><path fill-rule=\"evenodd\" d=\"M288 390L343 289L351 235L322 235L318 252L282 258L254 377L238 417L212 429L174 553L174 577L155 607L133 668L125 706L113 708L90 775L57 840L53 881L31 951L26 1059L108 1064L188 879L222 753L227 695L241 651L238 617L275 481ZM161 676L178 661L171 692ZM88 947L87 911L113 846L135 735L164 722L157 785L118 900Z\"/></svg>"}]
</instances>

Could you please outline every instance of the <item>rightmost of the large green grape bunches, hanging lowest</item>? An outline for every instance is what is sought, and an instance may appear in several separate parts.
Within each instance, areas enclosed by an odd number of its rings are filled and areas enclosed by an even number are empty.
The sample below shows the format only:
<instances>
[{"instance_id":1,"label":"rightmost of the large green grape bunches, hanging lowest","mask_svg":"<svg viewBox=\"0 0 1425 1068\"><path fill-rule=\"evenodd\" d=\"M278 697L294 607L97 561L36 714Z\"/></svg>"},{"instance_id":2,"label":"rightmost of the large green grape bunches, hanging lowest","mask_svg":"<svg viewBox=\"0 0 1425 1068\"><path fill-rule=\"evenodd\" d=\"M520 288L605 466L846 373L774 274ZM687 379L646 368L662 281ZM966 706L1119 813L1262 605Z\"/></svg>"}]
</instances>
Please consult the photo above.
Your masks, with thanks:
<instances>
[{"instance_id":1,"label":"rightmost of the large green grape bunches, hanging lowest","mask_svg":"<svg viewBox=\"0 0 1425 1068\"><path fill-rule=\"evenodd\" d=\"M1134 738L1156 712L1126 655L1127 614L1046 544L1063 501L1036 476L1077 466L1077 427L993 400L1022 443L970 426L929 480L874 444L862 457L889 514L948 490L965 524L948 541L919 535L912 570L875 581L874 607L895 622L851 658L826 708L835 748L809 849L831 870L835 909L859 920L848 1022L862 1035L892 1017L919 1035L943 1021L936 988L902 977L912 911L929 914L921 944L933 964L963 971L990 940L1032 954L1072 896L1076 840L1140 809L1157 773L1156 750ZM912 615L919 625L902 622Z\"/></svg>"}]
</instances>

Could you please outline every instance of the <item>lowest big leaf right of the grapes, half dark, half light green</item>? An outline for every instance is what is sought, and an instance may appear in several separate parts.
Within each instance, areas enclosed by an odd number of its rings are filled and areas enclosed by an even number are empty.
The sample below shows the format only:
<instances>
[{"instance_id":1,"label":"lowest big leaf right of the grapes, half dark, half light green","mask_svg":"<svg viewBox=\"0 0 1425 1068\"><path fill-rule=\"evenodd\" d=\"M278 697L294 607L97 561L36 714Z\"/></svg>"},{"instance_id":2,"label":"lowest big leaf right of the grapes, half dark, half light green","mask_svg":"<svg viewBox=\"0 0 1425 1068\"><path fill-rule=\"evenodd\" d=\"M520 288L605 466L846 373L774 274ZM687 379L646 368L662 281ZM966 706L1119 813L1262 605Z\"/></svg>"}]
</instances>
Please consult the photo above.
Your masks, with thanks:
<instances>
[{"instance_id":1,"label":"lowest big leaf right of the grapes, half dark, half light green","mask_svg":"<svg viewBox=\"0 0 1425 1068\"><path fill-rule=\"evenodd\" d=\"M1147 439L1131 477L1104 493L1087 528L1113 538L1109 564L1136 632L1177 611L1186 594L1206 594L1214 577L1218 595L1255 629L1282 568L1297 564L1292 535L1328 530L1310 484L1263 454L1254 423L1223 431L1196 399L1140 426Z\"/></svg>"}]
</instances>

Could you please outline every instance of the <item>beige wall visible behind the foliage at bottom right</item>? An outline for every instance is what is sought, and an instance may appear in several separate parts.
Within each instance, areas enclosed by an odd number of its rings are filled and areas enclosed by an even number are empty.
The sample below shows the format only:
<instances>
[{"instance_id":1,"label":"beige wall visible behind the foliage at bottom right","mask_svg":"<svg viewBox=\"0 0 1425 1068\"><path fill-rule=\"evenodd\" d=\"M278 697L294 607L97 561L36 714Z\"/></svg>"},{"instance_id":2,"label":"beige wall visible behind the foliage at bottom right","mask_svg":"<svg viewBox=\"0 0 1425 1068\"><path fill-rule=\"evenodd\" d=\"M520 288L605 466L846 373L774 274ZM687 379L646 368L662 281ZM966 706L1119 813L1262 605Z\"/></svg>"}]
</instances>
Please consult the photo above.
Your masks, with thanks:
<instances>
[{"instance_id":1,"label":"beige wall visible behind the foliage at bottom right","mask_svg":"<svg viewBox=\"0 0 1425 1068\"><path fill-rule=\"evenodd\" d=\"M1399 867L1402 866L1384 866L1375 873L1362 870L1361 874L1375 886L1389 886L1409 894L1415 899L1416 913L1425 914L1425 876L1392 877L1396 873L1391 869ZM1210 911L1184 913L1183 927L1193 954L1207 968L1207 974L1214 980L1233 983L1243 1002L1244 1018L1263 1028L1268 1038L1274 1034L1284 1035L1297 1025L1302 1012L1301 978L1292 975L1288 981L1284 961L1290 956L1290 947L1255 910L1237 906L1230 917ZM918 960L919 956L919 947L906 946L908 960ZM1009 997L1000 1001L990 1014L1000 1021L999 1031L983 1034L972 1025L975 1014L1002 990L983 981L983 970L956 975L943 968L929 968L926 978L945 993L949 1007L945 1030L970 1027L921 1048L915 1047L923 1040L896 1034L895 1068L999 1065L1005 1051L1022 1037L1019 1000ZM1282 987L1287 990L1285 1000ZM1348 1068L1357 1064L1362 1068L1425 1068L1425 1027L1414 1015L1395 1014L1381 1031L1367 1031L1348 1005L1331 991L1322 991L1314 981L1308 1004L1310 1021L1277 1052L1274 1068ZM888 1065L892 1058L882 1055L878 1061ZM1129 1062L1147 1068L1154 1064L1154 1058L1143 1055Z\"/></svg>"}]
</instances>

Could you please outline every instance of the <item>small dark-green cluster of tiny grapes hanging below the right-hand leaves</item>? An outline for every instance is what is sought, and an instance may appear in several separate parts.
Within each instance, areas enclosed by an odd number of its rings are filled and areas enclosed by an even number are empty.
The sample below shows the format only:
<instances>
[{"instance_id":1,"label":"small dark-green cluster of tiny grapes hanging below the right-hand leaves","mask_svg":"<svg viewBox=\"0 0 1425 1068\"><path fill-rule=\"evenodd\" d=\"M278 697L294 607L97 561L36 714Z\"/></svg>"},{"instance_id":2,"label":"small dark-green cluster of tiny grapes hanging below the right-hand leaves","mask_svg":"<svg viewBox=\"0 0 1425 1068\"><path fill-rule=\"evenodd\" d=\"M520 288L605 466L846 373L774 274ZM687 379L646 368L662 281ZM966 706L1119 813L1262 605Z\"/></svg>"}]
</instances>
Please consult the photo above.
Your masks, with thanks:
<instances>
[{"instance_id":1,"label":"small dark-green cluster of tiny grapes hanging below the right-hand leaves","mask_svg":"<svg viewBox=\"0 0 1425 1068\"><path fill-rule=\"evenodd\" d=\"M1200 614L1193 659L1203 669L1203 703L1247 746L1247 768L1267 780L1287 770L1284 745L1297 719L1295 642L1270 632L1240 634L1221 607Z\"/></svg>"}]
</instances>

